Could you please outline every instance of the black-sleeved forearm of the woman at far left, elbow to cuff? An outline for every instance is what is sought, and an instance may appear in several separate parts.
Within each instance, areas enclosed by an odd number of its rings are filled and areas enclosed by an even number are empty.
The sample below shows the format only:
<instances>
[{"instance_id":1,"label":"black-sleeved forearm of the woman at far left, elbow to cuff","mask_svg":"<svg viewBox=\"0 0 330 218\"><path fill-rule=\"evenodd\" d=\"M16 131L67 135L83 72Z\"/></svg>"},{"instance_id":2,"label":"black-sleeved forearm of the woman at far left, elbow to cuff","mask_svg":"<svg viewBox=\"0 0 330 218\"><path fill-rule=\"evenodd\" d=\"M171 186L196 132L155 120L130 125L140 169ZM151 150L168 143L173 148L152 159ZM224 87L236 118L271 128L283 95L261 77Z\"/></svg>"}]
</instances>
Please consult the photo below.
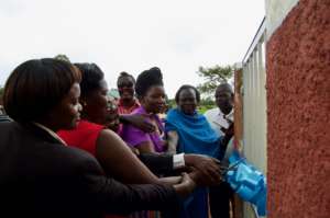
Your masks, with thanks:
<instances>
[{"instance_id":1,"label":"black-sleeved forearm of the woman at far left, elbow to cuff","mask_svg":"<svg viewBox=\"0 0 330 218\"><path fill-rule=\"evenodd\" d=\"M136 210L172 210L178 205L178 196L172 186L124 185L102 176L92 180L96 181L92 181L92 198L89 200L109 214L127 215Z\"/></svg>"}]
</instances>

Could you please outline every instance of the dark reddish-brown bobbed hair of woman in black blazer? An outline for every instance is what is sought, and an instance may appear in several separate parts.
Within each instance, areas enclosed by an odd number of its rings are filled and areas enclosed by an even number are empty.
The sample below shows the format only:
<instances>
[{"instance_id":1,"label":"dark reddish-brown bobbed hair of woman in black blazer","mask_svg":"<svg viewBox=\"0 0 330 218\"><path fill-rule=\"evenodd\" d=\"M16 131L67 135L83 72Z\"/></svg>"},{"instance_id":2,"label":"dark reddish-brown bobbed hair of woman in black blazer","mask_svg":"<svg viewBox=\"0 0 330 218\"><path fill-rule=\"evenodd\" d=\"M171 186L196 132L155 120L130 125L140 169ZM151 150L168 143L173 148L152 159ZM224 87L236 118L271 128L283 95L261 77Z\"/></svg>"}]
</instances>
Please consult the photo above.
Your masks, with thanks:
<instances>
[{"instance_id":1,"label":"dark reddish-brown bobbed hair of woman in black blazer","mask_svg":"<svg viewBox=\"0 0 330 218\"><path fill-rule=\"evenodd\" d=\"M19 123L43 118L81 79L72 64L53 58L32 59L9 76L3 93L6 113Z\"/></svg>"}]
</instances>

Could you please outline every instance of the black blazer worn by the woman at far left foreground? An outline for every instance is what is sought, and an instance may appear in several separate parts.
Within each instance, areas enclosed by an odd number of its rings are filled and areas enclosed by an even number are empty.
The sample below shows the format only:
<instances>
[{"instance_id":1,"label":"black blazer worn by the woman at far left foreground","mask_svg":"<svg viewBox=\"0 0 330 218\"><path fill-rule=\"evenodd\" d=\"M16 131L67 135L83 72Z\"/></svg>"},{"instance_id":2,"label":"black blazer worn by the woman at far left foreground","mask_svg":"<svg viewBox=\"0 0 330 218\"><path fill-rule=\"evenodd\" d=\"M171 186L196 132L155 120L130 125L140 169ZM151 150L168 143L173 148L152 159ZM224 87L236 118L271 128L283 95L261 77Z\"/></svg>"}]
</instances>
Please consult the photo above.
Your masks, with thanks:
<instances>
[{"instance_id":1,"label":"black blazer worn by the woman at far left foreground","mask_svg":"<svg viewBox=\"0 0 330 218\"><path fill-rule=\"evenodd\" d=\"M0 123L0 217L84 218L177 206L170 186L123 185L106 177L94 157L45 130Z\"/></svg>"}]
</instances>

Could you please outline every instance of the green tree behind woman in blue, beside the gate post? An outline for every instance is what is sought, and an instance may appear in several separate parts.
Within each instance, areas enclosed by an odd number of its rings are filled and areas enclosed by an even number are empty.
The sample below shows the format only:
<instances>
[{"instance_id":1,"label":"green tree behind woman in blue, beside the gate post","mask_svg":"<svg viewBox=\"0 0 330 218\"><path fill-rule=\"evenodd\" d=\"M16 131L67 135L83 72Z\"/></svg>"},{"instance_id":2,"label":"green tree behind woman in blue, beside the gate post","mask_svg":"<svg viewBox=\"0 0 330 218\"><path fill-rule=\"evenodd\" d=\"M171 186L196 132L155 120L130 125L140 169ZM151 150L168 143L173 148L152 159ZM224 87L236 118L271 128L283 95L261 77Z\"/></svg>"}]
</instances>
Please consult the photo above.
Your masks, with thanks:
<instances>
[{"instance_id":1,"label":"green tree behind woman in blue, beside the gate post","mask_svg":"<svg viewBox=\"0 0 330 218\"><path fill-rule=\"evenodd\" d=\"M197 73L204 78L205 82L198 84L197 89L201 94L210 96L220 83L227 82L233 76L233 67L229 65L224 67L216 65L210 68L199 67Z\"/></svg>"}]
</instances>

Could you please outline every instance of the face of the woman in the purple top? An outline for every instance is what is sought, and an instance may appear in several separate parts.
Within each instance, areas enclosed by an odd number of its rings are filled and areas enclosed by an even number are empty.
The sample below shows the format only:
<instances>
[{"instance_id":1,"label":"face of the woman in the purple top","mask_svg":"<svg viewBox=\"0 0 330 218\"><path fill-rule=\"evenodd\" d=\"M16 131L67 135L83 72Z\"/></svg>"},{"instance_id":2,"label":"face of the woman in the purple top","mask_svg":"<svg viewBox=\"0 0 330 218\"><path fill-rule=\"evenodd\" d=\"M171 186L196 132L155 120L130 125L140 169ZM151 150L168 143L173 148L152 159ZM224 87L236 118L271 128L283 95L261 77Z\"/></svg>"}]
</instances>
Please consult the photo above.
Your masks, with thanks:
<instances>
[{"instance_id":1,"label":"face of the woman in the purple top","mask_svg":"<svg viewBox=\"0 0 330 218\"><path fill-rule=\"evenodd\" d=\"M146 112L157 114L161 113L165 106L165 91L163 85L151 87L145 96L142 97L141 104Z\"/></svg>"}]
</instances>

